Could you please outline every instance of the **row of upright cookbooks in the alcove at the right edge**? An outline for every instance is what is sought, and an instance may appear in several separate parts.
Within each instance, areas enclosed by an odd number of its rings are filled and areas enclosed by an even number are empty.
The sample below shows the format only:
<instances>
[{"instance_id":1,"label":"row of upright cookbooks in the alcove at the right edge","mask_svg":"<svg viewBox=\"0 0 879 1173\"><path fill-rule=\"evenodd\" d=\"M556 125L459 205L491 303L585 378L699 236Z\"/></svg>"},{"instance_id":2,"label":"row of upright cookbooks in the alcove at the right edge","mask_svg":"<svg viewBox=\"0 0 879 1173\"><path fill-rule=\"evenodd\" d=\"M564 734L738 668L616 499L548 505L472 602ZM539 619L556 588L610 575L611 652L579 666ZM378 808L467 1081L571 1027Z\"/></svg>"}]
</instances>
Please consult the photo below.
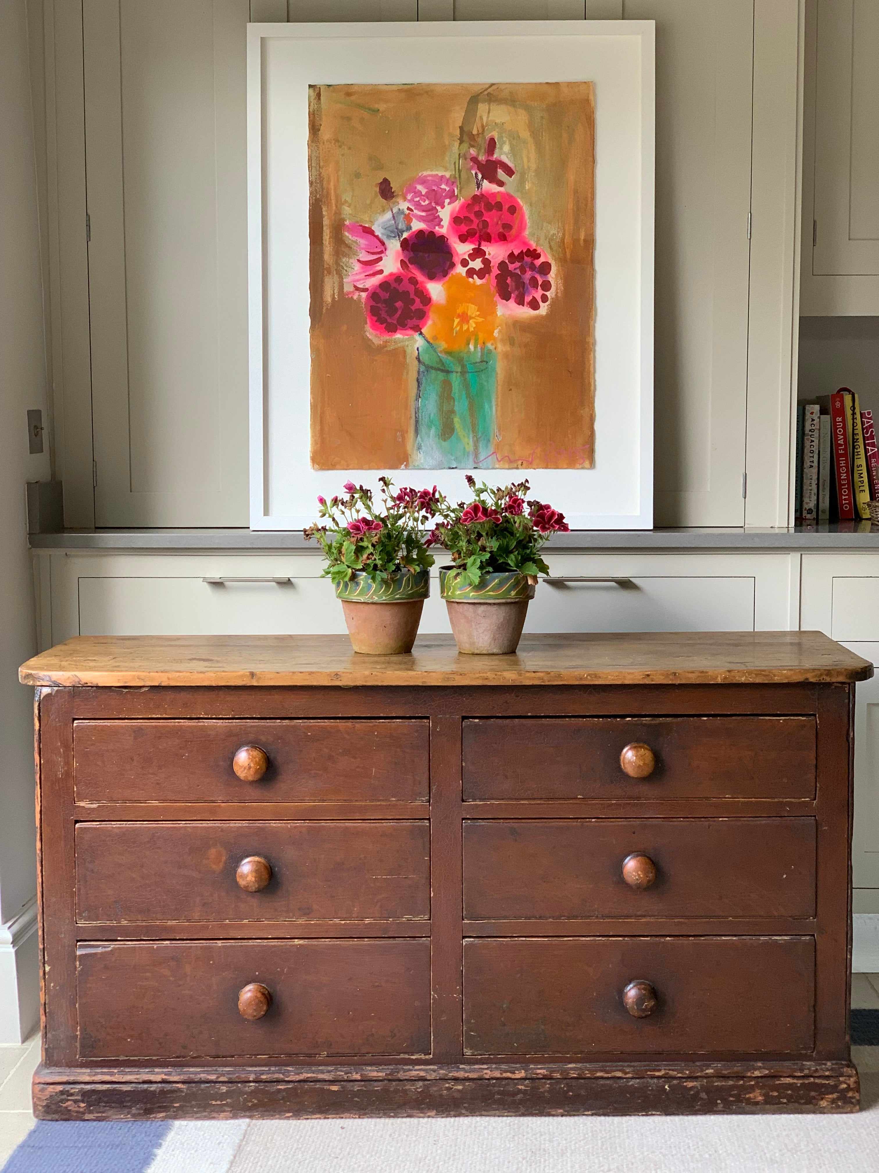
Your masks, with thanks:
<instances>
[{"instance_id":1,"label":"row of upright cookbooks in the alcove at the right edge","mask_svg":"<svg viewBox=\"0 0 879 1173\"><path fill-rule=\"evenodd\" d=\"M872 411L840 387L797 406L795 516L803 524L868 521L879 501Z\"/></svg>"}]
</instances>

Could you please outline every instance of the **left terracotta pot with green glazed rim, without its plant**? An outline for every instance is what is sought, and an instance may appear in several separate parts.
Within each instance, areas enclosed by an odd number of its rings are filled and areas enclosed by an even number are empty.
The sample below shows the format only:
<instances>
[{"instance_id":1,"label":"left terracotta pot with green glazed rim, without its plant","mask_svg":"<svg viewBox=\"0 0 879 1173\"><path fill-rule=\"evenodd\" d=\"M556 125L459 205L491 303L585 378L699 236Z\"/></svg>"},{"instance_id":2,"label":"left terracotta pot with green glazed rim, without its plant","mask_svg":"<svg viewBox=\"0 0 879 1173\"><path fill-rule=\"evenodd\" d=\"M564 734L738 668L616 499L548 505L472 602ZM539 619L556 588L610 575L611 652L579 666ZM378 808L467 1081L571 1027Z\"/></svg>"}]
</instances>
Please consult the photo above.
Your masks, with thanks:
<instances>
[{"instance_id":1,"label":"left terracotta pot with green glazed rim, without its plant","mask_svg":"<svg viewBox=\"0 0 879 1173\"><path fill-rule=\"evenodd\" d=\"M336 583L335 594L355 652L401 656L413 650L430 575L404 570L376 583L355 571L347 582Z\"/></svg>"}]
</instances>

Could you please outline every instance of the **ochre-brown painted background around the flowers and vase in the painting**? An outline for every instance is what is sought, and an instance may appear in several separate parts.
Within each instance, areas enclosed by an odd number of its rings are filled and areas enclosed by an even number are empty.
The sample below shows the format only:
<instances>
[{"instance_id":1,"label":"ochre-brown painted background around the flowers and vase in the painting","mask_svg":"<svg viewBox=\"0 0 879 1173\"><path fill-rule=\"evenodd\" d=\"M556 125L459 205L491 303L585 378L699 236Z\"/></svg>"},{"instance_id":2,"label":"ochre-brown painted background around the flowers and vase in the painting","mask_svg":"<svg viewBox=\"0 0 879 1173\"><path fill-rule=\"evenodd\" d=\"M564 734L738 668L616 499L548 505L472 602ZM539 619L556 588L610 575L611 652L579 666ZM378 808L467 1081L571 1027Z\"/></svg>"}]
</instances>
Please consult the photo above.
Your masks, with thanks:
<instances>
[{"instance_id":1,"label":"ochre-brown painted background around the flowers and vase in the painting","mask_svg":"<svg viewBox=\"0 0 879 1173\"><path fill-rule=\"evenodd\" d=\"M503 317L497 337L498 468L591 468L594 453L594 89L591 82L314 86L309 90L311 450L323 469L406 468L416 340L370 334L347 297L355 249L421 171L458 171L466 133L495 135L516 168L507 190L553 262L540 314ZM462 145L462 157L469 143ZM462 168L459 194L475 190Z\"/></svg>"}]
</instances>

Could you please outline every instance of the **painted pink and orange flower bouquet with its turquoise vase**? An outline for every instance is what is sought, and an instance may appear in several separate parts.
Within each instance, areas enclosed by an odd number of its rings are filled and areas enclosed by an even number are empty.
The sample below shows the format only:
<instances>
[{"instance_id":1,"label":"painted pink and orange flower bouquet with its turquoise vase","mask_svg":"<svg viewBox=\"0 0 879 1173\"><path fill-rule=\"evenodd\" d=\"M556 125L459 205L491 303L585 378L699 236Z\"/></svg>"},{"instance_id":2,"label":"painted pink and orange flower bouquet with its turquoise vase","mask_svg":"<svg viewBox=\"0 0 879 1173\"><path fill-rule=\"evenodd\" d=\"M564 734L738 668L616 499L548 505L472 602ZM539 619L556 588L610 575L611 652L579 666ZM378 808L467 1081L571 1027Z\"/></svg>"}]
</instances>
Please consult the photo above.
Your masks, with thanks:
<instances>
[{"instance_id":1,"label":"painted pink and orange flower bouquet with its turquoise vase","mask_svg":"<svg viewBox=\"0 0 879 1173\"><path fill-rule=\"evenodd\" d=\"M384 177L384 211L345 225L356 248L345 287L362 299L368 330L416 340L417 468L495 467L500 318L541 313L553 294L552 260L506 190L516 169L497 137L475 136L458 172L423 172L400 191Z\"/></svg>"}]
</instances>

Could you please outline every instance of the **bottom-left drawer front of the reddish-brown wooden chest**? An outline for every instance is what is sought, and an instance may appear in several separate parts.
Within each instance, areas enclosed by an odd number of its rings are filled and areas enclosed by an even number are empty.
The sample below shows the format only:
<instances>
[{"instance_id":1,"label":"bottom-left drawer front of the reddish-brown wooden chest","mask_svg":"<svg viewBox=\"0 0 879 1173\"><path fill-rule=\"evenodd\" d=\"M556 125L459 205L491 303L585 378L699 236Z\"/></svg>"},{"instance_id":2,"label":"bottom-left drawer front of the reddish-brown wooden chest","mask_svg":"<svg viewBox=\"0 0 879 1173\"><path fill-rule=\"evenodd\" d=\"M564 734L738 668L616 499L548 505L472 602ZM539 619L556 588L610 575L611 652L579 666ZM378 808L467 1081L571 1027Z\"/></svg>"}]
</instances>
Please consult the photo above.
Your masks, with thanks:
<instances>
[{"instance_id":1,"label":"bottom-left drawer front of the reddish-brown wooden chest","mask_svg":"<svg viewBox=\"0 0 879 1173\"><path fill-rule=\"evenodd\" d=\"M83 1059L430 1051L427 940L84 944L76 982ZM251 983L271 994L255 1022Z\"/></svg>"}]
</instances>

